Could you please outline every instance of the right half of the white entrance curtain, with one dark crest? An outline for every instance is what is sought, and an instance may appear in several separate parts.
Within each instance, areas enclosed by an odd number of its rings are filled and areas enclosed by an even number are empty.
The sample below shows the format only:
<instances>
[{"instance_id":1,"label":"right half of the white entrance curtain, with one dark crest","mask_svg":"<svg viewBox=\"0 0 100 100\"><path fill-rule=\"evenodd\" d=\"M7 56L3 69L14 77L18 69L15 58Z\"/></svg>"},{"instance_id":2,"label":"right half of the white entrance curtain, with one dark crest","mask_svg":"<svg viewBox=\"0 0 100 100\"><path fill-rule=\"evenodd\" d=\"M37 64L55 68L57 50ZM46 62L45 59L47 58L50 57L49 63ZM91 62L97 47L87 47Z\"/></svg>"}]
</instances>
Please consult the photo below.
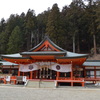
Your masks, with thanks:
<instances>
[{"instance_id":1,"label":"right half of the white entrance curtain, with one dark crest","mask_svg":"<svg viewBox=\"0 0 100 100\"><path fill-rule=\"evenodd\" d=\"M71 72L72 64L55 64L52 65L49 69L58 71L58 72Z\"/></svg>"}]
</instances>

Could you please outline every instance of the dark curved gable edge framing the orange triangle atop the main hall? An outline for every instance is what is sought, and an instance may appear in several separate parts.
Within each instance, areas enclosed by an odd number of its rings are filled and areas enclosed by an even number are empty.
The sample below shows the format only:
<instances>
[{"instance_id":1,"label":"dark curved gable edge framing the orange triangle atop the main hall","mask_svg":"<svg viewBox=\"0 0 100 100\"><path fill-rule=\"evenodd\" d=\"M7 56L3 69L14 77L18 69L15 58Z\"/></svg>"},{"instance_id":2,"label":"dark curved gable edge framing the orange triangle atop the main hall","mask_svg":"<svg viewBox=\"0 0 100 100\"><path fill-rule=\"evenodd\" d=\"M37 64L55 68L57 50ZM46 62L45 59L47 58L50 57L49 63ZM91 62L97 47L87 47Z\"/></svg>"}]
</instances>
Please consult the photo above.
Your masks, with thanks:
<instances>
[{"instance_id":1,"label":"dark curved gable edge framing the orange triangle atop the main hall","mask_svg":"<svg viewBox=\"0 0 100 100\"><path fill-rule=\"evenodd\" d=\"M45 41L48 41L53 47L55 47L56 49L58 49L59 51L65 51L64 49L62 49L61 47L57 46L53 41L51 41L47 36L45 36L45 38L35 47L33 47L32 49L29 50L29 52L36 50L39 46L41 46Z\"/></svg>"}]
</instances>

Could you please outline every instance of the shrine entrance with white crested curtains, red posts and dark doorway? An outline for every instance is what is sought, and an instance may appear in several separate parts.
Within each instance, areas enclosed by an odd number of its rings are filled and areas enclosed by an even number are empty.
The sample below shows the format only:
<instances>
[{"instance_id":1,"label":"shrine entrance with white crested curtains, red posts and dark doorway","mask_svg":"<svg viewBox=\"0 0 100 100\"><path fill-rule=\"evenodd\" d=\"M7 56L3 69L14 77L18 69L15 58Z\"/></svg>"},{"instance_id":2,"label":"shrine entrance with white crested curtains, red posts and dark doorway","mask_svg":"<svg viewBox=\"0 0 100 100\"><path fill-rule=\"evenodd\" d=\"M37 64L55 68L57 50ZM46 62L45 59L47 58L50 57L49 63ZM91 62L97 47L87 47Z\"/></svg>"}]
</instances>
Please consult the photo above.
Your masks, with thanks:
<instances>
[{"instance_id":1,"label":"shrine entrance with white crested curtains, red posts and dark doorway","mask_svg":"<svg viewBox=\"0 0 100 100\"><path fill-rule=\"evenodd\" d=\"M71 78L72 65L55 62L36 62L20 65L19 74L29 79L59 80ZM20 76L19 75L19 76Z\"/></svg>"}]
</instances>

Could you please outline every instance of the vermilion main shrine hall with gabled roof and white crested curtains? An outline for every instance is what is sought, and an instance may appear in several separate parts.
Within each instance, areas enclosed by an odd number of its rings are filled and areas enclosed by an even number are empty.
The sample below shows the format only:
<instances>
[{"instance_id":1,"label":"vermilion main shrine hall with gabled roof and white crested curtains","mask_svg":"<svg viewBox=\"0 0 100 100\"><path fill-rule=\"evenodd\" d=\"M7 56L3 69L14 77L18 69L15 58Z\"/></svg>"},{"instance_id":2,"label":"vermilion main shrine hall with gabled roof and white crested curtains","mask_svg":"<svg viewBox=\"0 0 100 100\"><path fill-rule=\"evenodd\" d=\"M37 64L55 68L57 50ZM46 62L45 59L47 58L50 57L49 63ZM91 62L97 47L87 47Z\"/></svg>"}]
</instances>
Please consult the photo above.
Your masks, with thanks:
<instances>
[{"instance_id":1,"label":"vermilion main shrine hall with gabled roof and white crested curtains","mask_svg":"<svg viewBox=\"0 0 100 100\"><path fill-rule=\"evenodd\" d=\"M60 48L48 37L27 52L2 55L3 60L18 64L18 76L27 76L31 81L56 81L56 86L63 83L84 86L85 80L90 79L87 77L87 57L87 54ZM93 71L96 75L96 70ZM96 81L96 77L92 81Z\"/></svg>"}]
</instances>

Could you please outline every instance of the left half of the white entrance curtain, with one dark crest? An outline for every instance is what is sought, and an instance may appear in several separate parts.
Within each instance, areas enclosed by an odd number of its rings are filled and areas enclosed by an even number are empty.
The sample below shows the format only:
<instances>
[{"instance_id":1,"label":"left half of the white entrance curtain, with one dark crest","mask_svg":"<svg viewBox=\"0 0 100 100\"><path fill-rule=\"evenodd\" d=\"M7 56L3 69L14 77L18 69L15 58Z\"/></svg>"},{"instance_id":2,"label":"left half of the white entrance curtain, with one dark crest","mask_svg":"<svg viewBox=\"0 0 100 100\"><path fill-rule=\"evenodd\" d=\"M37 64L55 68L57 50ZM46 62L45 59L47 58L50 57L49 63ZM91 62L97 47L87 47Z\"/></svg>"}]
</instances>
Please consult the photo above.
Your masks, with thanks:
<instances>
[{"instance_id":1,"label":"left half of the white entrance curtain, with one dark crest","mask_svg":"<svg viewBox=\"0 0 100 100\"><path fill-rule=\"evenodd\" d=\"M30 71L34 71L34 70L38 70L39 66L37 66L36 64L20 64L19 65L19 71L20 72L30 72Z\"/></svg>"}]
</instances>

